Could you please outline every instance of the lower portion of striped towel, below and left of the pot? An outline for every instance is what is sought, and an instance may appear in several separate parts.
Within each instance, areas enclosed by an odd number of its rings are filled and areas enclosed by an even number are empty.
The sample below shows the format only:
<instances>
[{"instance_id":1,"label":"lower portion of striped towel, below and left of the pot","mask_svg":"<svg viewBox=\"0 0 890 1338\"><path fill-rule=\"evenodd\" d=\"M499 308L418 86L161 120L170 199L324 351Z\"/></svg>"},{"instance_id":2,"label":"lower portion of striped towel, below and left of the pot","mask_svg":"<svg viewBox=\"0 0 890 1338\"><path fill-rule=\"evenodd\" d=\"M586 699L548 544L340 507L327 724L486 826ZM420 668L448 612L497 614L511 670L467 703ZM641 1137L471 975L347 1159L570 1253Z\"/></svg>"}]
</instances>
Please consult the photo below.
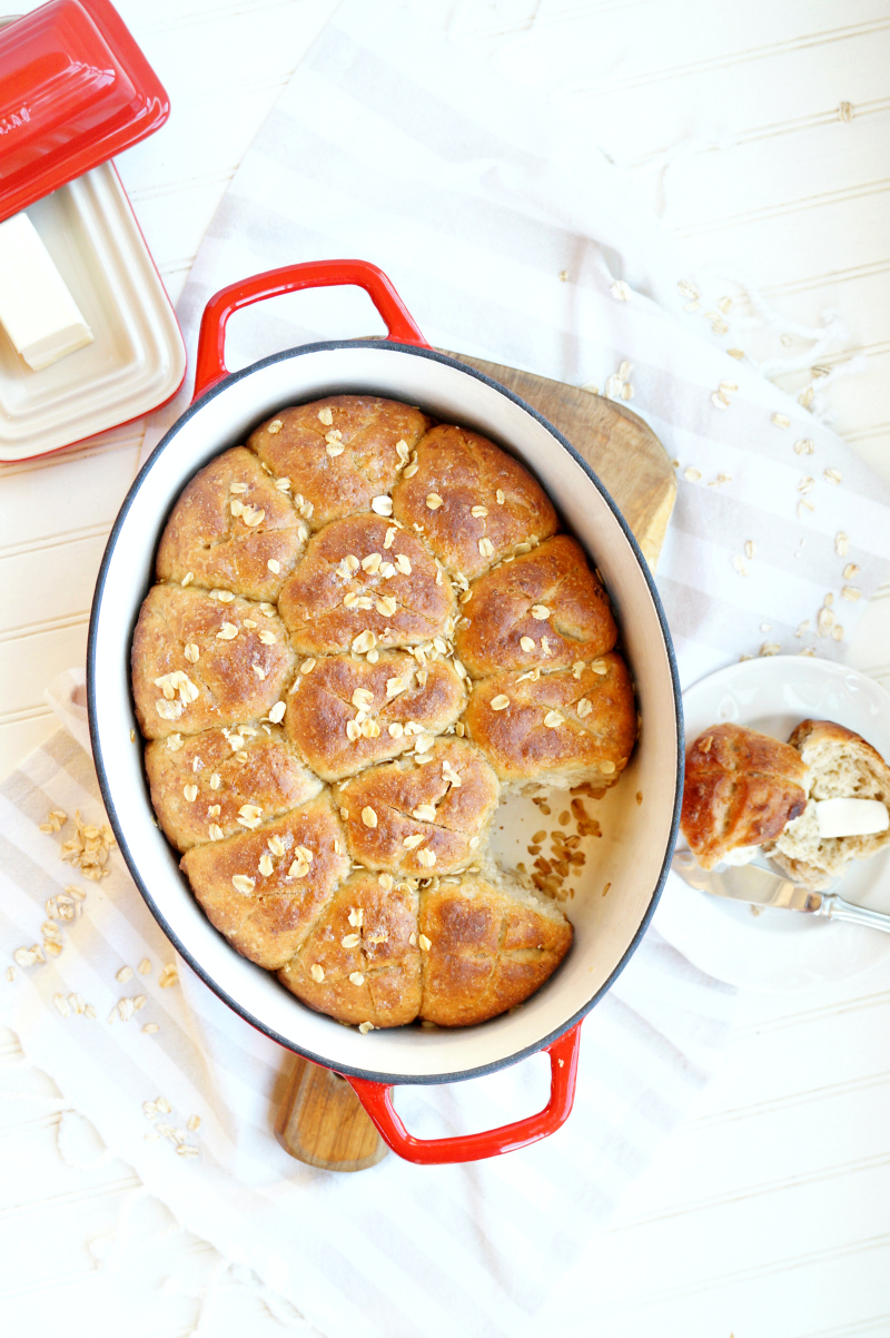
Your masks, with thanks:
<instances>
[{"instance_id":1,"label":"lower portion of striped towel, below and left of the pot","mask_svg":"<svg viewBox=\"0 0 890 1338\"><path fill-rule=\"evenodd\" d=\"M67 729L0 787L0 997L28 1060L182 1226L307 1329L539 1334L548 1298L707 1081L734 991L649 930L584 1024L575 1111L551 1139L468 1165L389 1156L359 1175L314 1171L271 1136L283 1050L175 959L103 839L83 673L51 700ZM398 1108L441 1137L540 1109L548 1081L535 1056L402 1088Z\"/></svg>"}]
</instances>

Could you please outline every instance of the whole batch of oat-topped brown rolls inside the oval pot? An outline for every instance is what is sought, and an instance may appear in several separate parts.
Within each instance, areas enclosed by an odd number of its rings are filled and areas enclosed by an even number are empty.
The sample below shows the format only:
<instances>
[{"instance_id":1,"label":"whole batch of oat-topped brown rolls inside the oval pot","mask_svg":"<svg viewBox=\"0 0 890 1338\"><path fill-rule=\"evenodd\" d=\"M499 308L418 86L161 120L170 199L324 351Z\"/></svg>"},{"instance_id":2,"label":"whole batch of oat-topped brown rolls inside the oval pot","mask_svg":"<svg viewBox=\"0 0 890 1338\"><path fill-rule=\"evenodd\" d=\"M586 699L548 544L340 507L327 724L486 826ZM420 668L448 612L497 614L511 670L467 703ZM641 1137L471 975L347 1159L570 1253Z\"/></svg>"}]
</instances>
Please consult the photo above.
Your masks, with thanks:
<instances>
[{"instance_id":1,"label":"whole batch of oat-topped brown rolls inside the oval pot","mask_svg":"<svg viewBox=\"0 0 890 1338\"><path fill-rule=\"evenodd\" d=\"M211 923L359 1030L485 1021L572 926L486 856L506 788L613 785L609 601L523 466L417 408L281 409L175 503L132 641L158 820Z\"/></svg>"}]
</instances>

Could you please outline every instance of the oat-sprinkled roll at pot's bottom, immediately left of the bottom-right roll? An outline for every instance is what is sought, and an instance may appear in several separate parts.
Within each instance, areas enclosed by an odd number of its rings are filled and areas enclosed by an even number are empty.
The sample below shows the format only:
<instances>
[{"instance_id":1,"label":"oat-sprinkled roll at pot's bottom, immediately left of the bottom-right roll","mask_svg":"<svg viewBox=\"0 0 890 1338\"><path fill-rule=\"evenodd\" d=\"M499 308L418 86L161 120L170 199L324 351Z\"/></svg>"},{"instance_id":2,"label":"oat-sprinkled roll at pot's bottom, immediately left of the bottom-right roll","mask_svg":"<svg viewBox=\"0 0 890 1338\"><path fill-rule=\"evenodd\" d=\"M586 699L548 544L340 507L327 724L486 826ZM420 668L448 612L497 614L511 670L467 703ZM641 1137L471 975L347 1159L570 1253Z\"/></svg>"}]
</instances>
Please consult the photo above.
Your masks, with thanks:
<instances>
[{"instance_id":1,"label":"oat-sprinkled roll at pot's bottom, immediately left of the bottom-right roll","mask_svg":"<svg viewBox=\"0 0 890 1338\"><path fill-rule=\"evenodd\" d=\"M339 1022L402 1026L420 1009L420 955L414 884L359 872L325 906L278 978Z\"/></svg>"}]
</instances>

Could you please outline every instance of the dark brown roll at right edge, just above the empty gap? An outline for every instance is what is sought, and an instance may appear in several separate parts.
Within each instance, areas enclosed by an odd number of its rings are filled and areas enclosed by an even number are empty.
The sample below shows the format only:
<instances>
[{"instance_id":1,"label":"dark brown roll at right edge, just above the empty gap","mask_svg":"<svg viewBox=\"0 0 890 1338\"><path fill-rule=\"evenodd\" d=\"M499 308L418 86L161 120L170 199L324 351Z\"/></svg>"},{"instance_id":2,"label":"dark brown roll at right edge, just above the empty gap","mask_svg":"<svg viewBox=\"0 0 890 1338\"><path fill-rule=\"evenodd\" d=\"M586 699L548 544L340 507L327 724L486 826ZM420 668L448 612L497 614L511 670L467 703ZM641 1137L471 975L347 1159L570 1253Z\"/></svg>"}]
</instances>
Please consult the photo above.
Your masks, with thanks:
<instances>
[{"instance_id":1,"label":"dark brown roll at right edge, just above the empty gap","mask_svg":"<svg viewBox=\"0 0 890 1338\"><path fill-rule=\"evenodd\" d=\"M502 781L568 788L613 785L636 741L633 684L620 656L473 684L466 732Z\"/></svg>"}]
</instances>

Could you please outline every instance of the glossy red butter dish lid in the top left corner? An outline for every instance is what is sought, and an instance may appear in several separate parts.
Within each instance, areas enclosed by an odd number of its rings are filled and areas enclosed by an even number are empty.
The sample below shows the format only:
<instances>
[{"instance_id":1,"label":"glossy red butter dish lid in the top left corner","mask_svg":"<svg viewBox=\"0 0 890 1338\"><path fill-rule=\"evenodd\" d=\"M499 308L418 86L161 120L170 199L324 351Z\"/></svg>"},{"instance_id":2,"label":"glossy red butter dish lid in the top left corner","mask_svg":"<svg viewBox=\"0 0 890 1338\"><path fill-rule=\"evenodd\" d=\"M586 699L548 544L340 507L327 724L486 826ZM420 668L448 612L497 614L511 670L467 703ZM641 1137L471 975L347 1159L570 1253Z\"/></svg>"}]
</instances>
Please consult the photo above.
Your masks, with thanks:
<instances>
[{"instance_id":1,"label":"glossy red butter dish lid in the top left corner","mask_svg":"<svg viewBox=\"0 0 890 1338\"><path fill-rule=\"evenodd\" d=\"M163 126L170 100L108 0L0 29L0 222Z\"/></svg>"}]
</instances>

